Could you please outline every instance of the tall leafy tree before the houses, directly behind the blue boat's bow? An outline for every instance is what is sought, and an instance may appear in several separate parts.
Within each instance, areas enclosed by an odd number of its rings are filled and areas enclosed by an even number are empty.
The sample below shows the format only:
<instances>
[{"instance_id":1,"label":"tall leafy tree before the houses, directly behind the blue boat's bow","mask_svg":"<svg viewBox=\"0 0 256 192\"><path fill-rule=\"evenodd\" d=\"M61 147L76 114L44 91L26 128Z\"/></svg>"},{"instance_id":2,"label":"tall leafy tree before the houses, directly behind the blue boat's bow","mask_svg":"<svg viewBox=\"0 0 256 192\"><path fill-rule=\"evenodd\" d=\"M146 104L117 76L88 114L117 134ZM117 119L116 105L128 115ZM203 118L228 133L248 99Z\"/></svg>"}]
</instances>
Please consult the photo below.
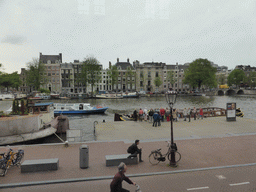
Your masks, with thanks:
<instances>
[{"instance_id":1,"label":"tall leafy tree before the houses, directly behind the blue boat's bow","mask_svg":"<svg viewBox=\"0 0 256 192\"><path fill-rule=\"evenodd\" d=\"M86 84L91 85L91 94L93 94L93 87L101 80L101 66L100 62L95 57L87 57L82 65L82 77Z\"/></svg>"}]
</instances>

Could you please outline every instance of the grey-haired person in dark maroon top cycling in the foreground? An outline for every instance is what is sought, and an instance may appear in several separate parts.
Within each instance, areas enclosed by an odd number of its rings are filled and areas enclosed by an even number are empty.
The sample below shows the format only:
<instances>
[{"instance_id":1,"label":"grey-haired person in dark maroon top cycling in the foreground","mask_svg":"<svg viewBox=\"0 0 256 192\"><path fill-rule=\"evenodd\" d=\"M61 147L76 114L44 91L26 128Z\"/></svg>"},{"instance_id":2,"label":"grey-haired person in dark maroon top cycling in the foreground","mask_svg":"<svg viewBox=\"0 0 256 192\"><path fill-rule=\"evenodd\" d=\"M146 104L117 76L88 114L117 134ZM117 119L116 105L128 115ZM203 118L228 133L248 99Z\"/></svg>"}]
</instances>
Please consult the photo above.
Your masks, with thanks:
<instances>
[{"instance_id":1,"label":"grey-haired person in dark maroon top cycling in the foreground","mask_svg":"<svg viewBox=\"0 0 256 192\"><path fill-rule=\"evenodd\" d=\"M112 182L110 183L110 191L111 192L129 192L128 190L122 187L122 182L125 180L129 184L136 185L136 183L132 182L128 177L125 176L125 172L127 171L127 166L125 163L121 162L118 166L118 172L115 174Z\"/></svg>"}]
</instances>

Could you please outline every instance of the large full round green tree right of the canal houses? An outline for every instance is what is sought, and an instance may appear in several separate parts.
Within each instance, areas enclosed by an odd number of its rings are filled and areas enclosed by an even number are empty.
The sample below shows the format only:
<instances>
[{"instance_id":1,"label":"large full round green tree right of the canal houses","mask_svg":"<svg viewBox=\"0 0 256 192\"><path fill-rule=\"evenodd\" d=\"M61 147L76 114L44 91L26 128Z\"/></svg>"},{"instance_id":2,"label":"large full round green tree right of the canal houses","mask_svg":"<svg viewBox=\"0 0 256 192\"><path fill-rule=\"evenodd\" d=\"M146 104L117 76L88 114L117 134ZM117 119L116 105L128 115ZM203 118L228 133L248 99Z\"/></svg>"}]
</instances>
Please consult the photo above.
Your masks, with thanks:
<instances>
[{"instance_id":1,"label":"large full round green tree right of the canal houses","mask_svg":"<svg viewBox=\"0 0 256 192\"><path fill-rule=\"evenodd\" d=\"M185 70L183 83L189 84L191 87L201 88L202 85L207 87L216 87L217 69L211 65L207 59L196 59L190 63Z\"/></svg>"}]
</instances>

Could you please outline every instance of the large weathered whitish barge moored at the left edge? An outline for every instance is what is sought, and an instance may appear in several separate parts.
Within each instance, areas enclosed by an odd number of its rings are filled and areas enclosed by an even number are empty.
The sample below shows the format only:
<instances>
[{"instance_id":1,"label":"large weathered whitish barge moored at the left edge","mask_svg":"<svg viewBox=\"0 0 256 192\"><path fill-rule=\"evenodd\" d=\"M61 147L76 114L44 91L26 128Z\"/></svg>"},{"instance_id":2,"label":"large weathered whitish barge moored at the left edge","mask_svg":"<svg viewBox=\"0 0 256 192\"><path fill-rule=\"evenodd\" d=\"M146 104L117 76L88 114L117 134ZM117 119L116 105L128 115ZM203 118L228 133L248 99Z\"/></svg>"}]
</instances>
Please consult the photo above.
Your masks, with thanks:
<instances>
[{"instance_id":1,"label":"large weathered whitish barge moored at the left edge","mask_svg":"<svg viewBox=\"0 0 256 192\"><path fill-rule=\"evenodd\" d=\"M21 143L55 134L60 120L54 118L53 102L30 102L28 107L27 115L10 114L0 118L0 145Z\"/></svg>"}]
</instances>

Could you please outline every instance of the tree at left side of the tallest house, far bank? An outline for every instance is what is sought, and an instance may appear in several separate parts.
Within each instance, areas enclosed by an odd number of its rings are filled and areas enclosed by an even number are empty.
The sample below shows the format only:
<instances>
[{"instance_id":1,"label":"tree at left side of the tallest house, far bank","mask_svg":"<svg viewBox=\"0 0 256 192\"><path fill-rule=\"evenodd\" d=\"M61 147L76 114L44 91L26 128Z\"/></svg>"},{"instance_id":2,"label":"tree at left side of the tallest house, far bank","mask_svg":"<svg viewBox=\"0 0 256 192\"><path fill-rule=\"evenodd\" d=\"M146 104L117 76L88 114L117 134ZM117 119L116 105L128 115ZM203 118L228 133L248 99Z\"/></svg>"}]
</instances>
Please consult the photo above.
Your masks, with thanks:
<instances>
[{"instance_id":1,"label":"tree at left side of the tallest house, far bank","mask_svg":"<svg viewBox=\"0 0 256 192\"><path fill-rule=\"evenodd\" d=\"M45 65L39 59L33 58L32 61L27 63L27 68L26 83L38 90L45 83Z\"/></svg>"}]
</instances>

